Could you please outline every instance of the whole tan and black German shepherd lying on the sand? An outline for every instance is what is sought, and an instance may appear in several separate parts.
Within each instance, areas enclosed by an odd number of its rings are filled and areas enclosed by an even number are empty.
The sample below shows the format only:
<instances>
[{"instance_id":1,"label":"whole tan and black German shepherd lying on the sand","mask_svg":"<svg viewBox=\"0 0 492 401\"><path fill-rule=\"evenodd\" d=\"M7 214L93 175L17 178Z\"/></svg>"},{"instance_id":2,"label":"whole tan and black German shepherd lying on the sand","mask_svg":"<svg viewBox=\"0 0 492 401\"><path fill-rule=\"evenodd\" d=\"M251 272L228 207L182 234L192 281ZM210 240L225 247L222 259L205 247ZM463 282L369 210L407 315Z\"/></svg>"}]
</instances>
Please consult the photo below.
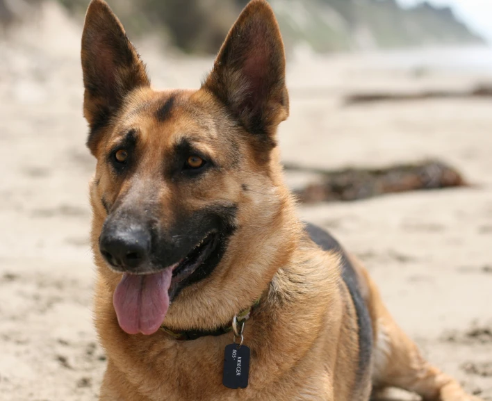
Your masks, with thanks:
<instances>
[{"instance_id":1,"label":"whole tan and black German shepherd lying on the sand","mask_svg":"<svg viewBox=\"0 0 492 401\"><path fill-rule=\"evenodd\" d=\"M297 217L276 139L284 45L265 0L246 6L199 90L151 88L102 0L82 67L101 400L352 401L386 386L477 400L423 359L361 264ZM233 341L250 350L236 389Z\"/></svg>"}]
</instances>

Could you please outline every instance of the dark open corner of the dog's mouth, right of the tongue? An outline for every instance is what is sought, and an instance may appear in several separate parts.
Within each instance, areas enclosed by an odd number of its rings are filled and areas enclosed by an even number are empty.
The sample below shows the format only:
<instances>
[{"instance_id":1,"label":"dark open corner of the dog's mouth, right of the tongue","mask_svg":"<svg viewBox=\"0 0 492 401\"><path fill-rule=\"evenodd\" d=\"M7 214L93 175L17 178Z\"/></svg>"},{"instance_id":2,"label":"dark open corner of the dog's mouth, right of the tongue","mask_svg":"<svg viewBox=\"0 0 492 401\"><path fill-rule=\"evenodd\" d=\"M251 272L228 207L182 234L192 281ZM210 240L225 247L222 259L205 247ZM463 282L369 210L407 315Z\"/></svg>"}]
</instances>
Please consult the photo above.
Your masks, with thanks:
<instances>
[{"instance_id":1,"label":"dark open corner of the dog's mouth, right of the tongue","mask_svg":"<svg viewBox=\"0 0 492 401\"><path fill-rule=\"evenodd\" d=\"M176 268L172 270L172 281L180 282L190 277L208 259L219 243L219 234L211 232L207 234L193 249L182 259Z\"/></svg>"}]
</instances>

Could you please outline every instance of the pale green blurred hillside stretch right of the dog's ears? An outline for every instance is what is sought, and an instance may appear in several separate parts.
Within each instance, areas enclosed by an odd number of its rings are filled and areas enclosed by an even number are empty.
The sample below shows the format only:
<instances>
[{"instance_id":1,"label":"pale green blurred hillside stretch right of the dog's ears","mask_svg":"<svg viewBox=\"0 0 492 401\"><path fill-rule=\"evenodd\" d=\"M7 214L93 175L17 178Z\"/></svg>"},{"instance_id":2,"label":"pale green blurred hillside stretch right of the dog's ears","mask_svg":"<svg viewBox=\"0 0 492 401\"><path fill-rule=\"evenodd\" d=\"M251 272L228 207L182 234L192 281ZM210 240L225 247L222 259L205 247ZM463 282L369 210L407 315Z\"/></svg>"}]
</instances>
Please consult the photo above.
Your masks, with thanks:
<instances>
[{"instance_id":1,"label":"pale green blurred hillside stretch right of the dog's ears","mask_svg":"<svg viewBox=\"0 0 492 401\"><path fill-rule=\"evenodd\" d=\"M481 41L450 8L404 10L396 0L272 0L284 37L315 51Z\"/></svg>"}]
</instances>

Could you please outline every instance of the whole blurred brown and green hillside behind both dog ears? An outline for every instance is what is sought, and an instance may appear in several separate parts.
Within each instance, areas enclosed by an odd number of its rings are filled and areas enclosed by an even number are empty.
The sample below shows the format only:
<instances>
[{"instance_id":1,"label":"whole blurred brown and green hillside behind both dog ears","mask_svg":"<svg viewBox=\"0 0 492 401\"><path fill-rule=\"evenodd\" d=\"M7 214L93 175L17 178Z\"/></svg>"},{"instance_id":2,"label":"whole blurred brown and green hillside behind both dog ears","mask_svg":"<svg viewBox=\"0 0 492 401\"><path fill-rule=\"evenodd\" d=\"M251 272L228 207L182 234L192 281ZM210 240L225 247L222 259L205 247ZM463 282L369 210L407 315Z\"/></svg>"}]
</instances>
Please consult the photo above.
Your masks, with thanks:
<instances>
[{"instance_id":1,"label":"whole blurred brown and green hillside behind both dog ears","mask_svg":"<svg viewBox=\"0 0 492 401\"><path fill-rule=\"evenodd\" d=\"M0 0L14 22L44 0ZM56 0L79 18L89 0ZM109 0L132 35L153 33L187 53L213 54L248 0ZM287 46L316 52L483 42L450 8L396 0L270 0Z\"/></svg>"}]
</instances>

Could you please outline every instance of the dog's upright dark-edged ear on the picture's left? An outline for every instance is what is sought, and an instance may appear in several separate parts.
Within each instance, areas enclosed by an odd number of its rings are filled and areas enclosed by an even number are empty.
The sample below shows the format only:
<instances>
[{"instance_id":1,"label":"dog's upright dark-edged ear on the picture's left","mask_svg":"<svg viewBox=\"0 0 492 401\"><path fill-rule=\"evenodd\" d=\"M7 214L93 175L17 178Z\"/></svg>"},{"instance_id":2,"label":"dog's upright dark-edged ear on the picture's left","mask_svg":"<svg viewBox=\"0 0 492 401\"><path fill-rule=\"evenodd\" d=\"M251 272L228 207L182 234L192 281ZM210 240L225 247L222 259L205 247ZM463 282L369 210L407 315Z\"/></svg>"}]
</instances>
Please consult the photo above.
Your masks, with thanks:
<instances>
[{"instance_id":1,"label":"dog's upright dark-edged ear on the picture's left","mask_svg":"<svg viewBox=\"0 0 492 401\"><path fill-rule=\"evenodd\" d=\"M84 116L89 123L87 145L95 154L98 133L110 122L131 90L149 86L145 65L120 21L103 0L92 0L82 35Z\"/></svg>"}]
</instances>

